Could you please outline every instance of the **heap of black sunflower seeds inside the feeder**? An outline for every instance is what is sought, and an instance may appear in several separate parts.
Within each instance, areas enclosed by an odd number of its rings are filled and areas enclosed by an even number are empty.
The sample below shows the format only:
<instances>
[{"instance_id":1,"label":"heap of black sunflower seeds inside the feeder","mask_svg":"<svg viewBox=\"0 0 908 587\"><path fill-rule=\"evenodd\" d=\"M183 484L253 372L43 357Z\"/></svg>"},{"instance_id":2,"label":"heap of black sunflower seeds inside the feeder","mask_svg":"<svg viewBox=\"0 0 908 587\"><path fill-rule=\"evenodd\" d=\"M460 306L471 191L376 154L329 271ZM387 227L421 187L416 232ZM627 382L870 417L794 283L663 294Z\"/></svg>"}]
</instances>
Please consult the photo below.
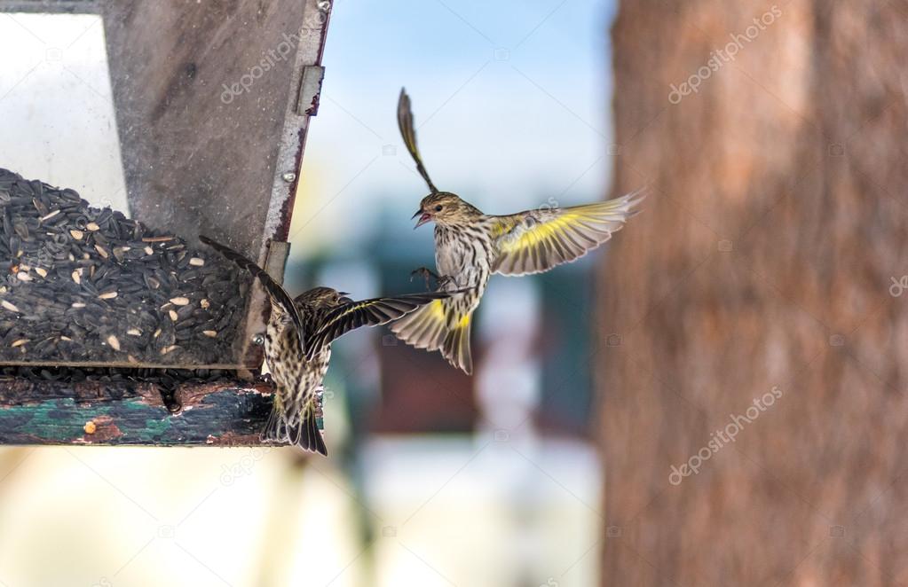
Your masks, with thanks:
<instances>
[{"instance_id":1,"label":"heap of black sunflower seeds inside the feeder","mask_svg":"<svg viewBox=\"0 0 908 587\"><path fill-rule=\"evenodd\" d=\"M250 278L213 251L0 169L0 362L234 362Z\"/></svg>"}]
</instances>

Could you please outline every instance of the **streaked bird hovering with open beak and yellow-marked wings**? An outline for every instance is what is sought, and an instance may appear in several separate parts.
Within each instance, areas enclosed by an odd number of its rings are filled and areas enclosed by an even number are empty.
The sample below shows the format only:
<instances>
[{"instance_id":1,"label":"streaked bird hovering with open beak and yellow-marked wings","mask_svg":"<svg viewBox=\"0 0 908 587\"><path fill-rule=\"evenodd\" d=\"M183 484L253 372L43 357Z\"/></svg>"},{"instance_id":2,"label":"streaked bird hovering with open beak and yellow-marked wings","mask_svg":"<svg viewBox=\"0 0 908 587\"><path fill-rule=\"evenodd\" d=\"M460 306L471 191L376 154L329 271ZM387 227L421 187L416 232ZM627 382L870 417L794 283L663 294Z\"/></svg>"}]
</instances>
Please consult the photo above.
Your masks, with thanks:
<instances>
[{"instance_id":1,"label":"streaked bird hovering with open beak and yellow-marked wings","mask_svg":"<svg viewBox=\"0 0 908 587\"><path fill-rule=\"evenodd\" d=\"M438 275L426 268L414 271L435 277L439 289L465 293L439 299L391 325L404 342L417 348L440 350L454 367L469 374L469 330L473 311L492 273L526 275L552 269L583 257L609 240L636 213L645 197L640 191L615 200L558 208L543 206L506 216L484 214L457 194L439 191L429 179L410 110L410 96L400 91L398 125L419 175L429 185L413 215L419 228L435 222L435 264Z\"/></svg>"}]
</instances>

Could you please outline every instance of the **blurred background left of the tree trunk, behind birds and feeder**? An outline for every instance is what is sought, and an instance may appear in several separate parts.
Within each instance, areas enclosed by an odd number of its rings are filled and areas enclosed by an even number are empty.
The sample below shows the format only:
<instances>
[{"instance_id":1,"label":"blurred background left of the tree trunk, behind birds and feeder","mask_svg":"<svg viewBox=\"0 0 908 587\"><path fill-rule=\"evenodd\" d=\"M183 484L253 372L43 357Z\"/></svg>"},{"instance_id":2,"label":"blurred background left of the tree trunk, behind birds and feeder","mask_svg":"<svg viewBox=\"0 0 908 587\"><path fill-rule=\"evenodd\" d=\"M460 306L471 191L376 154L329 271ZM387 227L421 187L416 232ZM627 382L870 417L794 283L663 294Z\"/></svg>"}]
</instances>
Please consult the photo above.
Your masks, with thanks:
<instances>
[{"instance_id":1,"label":"blurred background left of the tree trunk, behind birds and feeder","mask_svg":"<svg viewBox=\"0 0 908 587\"><path fill-rule=\"evenodd\" d=\"M490 213L602 199L614 10L338 0L288 289L424 289L410 271L434 266L432 230L410 220L426 186L397 129L404 85L443 189ZM0 164L126 210L100 17L0 14L0 60ZM326 382L329 459L3 449L0 585L597 583L588 325L606 254L494 279L472 378L384 328L342 338Z\"/></svg>"}]
</instances>

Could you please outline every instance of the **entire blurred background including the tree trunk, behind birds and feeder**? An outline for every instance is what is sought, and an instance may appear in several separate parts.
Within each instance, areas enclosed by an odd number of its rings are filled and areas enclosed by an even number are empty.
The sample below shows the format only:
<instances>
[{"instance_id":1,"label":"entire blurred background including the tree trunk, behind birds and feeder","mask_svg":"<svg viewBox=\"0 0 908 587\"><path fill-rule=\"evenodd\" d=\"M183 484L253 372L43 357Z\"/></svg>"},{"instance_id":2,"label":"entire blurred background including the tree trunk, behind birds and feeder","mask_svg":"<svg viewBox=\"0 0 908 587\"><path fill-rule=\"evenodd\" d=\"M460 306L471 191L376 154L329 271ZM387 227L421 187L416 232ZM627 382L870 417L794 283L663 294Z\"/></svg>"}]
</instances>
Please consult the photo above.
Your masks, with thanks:
<instances>
[{"instance_id":1,"label":"entire blurred background including the tree trunk, behind birds and feeder","mask_svg":"<svg viewBox=\"0 0 908 587\"><path fill-rule=\"evenodd\" d=\"M118 205L92 19L0 15L0 152ZM0 585L908 582L906 19L338 0L289 289L422 288L401 85L433 180L480 209L649 186L645 213L583 262L493 279L475 377L342 338L330 459L5 449Z\"/></svg>"}]
</instances>

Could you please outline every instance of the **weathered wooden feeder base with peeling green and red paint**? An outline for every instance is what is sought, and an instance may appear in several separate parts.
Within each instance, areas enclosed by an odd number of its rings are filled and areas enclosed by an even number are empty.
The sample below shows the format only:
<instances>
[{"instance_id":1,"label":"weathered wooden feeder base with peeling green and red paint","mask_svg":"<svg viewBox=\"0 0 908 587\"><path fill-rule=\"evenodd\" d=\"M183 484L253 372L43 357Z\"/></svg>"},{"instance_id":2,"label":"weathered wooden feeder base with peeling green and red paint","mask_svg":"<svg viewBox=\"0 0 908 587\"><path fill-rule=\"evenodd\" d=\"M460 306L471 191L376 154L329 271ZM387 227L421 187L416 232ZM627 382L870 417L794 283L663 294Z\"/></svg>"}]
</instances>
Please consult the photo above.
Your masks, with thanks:
<instances>
[{"instance_id":1,"label":"weathered wooden feeder base with peeling green and red paint","mask_svg":"<svg viewBox=\"0 0 908 587\"><path fill-rule=\"evenodd\" d=\"M172 414L150 383L5 380L0 444L259 446L272 392L261 379L183 384Z\"/></svg>"}]
</instances>

